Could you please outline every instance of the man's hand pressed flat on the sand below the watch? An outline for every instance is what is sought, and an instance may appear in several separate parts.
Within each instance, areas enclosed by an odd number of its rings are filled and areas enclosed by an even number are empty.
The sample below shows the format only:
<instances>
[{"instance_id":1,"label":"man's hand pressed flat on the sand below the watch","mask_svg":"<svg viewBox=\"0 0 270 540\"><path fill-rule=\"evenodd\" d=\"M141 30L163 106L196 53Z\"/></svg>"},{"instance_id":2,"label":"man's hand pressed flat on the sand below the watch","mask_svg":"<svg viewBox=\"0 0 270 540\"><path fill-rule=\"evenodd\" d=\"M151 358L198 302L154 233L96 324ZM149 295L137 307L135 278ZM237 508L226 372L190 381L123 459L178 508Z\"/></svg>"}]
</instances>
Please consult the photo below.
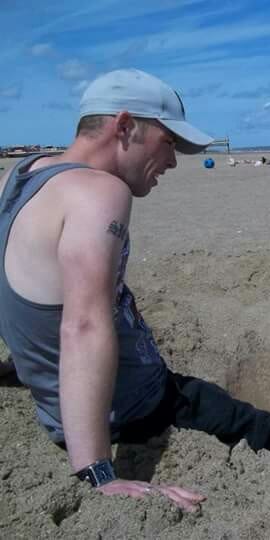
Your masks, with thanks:
<instances>
[{"instance_id":1,"label":"man's hand pressed flat on the sand below the watch","mask_svg":"<svg viewBox=\"0 0 270 540\"><path fill-rule=\"evenodd\" d=\"M159 492L187 512L198 511L200 503L206 500L204 495L193 493L178 486L152 485L137 480L117 479L97 489L104 495L129 495L138 498Z\"/></svg>"}]
</instances>

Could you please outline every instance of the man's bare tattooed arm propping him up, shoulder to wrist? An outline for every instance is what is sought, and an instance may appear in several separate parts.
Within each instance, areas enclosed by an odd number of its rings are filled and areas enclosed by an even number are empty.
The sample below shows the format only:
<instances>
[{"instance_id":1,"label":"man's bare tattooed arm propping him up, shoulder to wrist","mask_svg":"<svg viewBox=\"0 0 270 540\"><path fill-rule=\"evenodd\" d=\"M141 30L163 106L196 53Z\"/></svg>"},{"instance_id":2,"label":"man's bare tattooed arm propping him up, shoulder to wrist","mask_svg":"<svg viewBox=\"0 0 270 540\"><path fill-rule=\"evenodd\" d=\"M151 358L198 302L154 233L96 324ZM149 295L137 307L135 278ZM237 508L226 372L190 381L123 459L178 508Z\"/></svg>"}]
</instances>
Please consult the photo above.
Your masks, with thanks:
<instances>
[{"instance_id":1,"label":"man's bare tattooed arm propping him up, shoulder to wrist","mask_svg":"<svg viewBox=\"0 0 270 540\"><path fill-rule=\"evenodd\" d=\"M97 190L73 199L59 242L61 414L75 470L111 456L109 414L118 366L112 308L123 237L110 228L117 222L127 229L131 205L129 189L119 182L109 179L103 186L101 180Z\"/></svg>"}]
</instances>

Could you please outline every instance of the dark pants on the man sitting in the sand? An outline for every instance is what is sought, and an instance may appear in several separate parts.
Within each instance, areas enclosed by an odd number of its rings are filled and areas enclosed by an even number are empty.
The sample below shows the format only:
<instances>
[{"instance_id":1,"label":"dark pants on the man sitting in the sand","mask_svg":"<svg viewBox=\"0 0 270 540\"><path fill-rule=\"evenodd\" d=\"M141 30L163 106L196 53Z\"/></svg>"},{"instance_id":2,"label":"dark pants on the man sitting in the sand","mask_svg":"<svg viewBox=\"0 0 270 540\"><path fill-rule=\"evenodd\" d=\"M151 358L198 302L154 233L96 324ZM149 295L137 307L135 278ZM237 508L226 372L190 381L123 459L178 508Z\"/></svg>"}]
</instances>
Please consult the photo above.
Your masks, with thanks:
<instances>
[{"instance_id":1,"label":"dark pants on the man sitting in the sand","mask_svg":"<svg viewBox=\"0 0 270 540\"><path fill-rule=\"evenodd\" d=\"M216 384L170 371L157 408L123 426L113 442L143 443L170 425L205 431L231 447L246 439L255 451L270 450L270 413L233 399Z\"/></svg>"}]
</instances>

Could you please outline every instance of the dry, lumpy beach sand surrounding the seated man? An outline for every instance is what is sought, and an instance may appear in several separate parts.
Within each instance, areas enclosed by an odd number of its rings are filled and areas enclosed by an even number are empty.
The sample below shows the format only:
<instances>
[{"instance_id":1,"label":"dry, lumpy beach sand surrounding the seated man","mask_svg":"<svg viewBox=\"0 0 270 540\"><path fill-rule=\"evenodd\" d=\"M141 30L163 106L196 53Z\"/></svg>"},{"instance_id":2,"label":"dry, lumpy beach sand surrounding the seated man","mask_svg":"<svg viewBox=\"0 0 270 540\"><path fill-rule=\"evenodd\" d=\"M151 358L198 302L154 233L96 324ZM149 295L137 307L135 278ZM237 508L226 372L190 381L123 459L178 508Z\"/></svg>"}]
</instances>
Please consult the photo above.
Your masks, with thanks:
<instances>
[{"instance_id":1,"label":"dry, lumpy beach sand surrounding the seated man","mask_svg":"<svg viewBox=\"0 0 270 540\"><path fill-rule=\"evenodd\" d=\"M202 155L181 158L135 201L128 282L173 368L270 409L270 166L214 157L212 170ZM122 476L208 496L201 513L183 514L163 497L106 498L71 478L12 377L1 381L0 409L1 539L270 538L268 451L256 455L242 441L230 454L184 430L114 448Z\"/></svg>"}]
</instances>

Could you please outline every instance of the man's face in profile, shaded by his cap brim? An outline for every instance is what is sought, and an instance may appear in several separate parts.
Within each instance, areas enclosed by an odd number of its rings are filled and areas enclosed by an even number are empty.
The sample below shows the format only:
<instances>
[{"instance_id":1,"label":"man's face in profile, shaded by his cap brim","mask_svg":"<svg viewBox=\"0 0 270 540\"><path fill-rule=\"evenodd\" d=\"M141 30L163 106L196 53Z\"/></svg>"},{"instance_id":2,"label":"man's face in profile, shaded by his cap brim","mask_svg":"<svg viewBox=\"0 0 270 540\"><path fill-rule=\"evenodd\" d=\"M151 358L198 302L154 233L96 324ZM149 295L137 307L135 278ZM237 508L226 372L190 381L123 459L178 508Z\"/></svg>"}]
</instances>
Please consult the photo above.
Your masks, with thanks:
<instances>
[{"instance_id":1,"label":"man's face in profile, shaded by his cap brim","mask_svg":"<svg viewBox=\"0 0 270 540\"><path fill-rule=\"evenodd\" d=\"M145 197L158 184L159 176L177 165L174 135L157 121L145 122L135 126L122 155L125 181L136 197Z\"/></svg>"}]
</instances>

